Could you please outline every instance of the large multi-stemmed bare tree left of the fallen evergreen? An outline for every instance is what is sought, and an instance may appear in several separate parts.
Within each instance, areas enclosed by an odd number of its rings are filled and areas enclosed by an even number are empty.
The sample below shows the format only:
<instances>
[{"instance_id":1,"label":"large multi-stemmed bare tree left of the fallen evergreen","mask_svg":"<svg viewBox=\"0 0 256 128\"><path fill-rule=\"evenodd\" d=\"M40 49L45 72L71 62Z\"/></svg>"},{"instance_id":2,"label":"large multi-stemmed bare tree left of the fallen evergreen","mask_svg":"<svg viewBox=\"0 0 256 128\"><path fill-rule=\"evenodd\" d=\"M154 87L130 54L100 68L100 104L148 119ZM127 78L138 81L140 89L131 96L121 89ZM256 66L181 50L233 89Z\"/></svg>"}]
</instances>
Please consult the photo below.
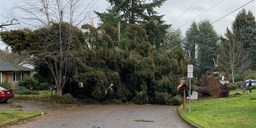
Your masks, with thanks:
<instances>
[{"instance_id":1,"label":"large multi-stemmed bare tree left of the fallen evergreen","mask_svg":"<svg viewBox=\"0 0 256 128\"><path fill-rule=\"evenodd\" d=\"M46 65L51 71L57 86L57 95L62 95L62 89L70 78L76 73L77 57L74 56L74 42L72 38L74 27L90 19L96 9L95 0L23 0L15 4L13 9L23 12L24 15L16 16L12 11L8 15L17 18L23 27L30 29L51 28L52 23L58 24L56 34L43 31L46 37L42 41L46 51L28 51L36 59L36 65ZM68 23L68 28L62 28L63 23ZM49 42L50 40L50 42ZM51 48L51 50L47 50ZM33 54L32 54L33 53ZM35 54L36 53L36 54Z\"/></svg>"}]
</instances>

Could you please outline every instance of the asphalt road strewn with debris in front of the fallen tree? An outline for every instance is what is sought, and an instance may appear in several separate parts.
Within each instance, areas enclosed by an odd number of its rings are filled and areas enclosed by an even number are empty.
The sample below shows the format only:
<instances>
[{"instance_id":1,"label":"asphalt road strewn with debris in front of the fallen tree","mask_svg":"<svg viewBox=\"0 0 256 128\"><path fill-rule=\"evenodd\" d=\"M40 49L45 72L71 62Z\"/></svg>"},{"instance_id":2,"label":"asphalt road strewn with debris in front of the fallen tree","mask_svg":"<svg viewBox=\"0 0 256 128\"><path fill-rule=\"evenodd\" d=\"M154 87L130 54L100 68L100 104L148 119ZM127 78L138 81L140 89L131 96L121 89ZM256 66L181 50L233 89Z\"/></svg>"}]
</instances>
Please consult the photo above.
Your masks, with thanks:
<instances>
[{"instance_id":1,"label":"asphalt road strewn with debris in front of the fallen tree","mask_svg":"<svg viewBox=\"0 0 256 128\"><path fill-rule=\"evenodd\" d=\"M135 122L134 120L153 122ZM27 124L10 128L189 128L179 118L176 106L90 105L55 111ZM96 128L95 127L95 128Z\"/></svg>"}]
</instances>

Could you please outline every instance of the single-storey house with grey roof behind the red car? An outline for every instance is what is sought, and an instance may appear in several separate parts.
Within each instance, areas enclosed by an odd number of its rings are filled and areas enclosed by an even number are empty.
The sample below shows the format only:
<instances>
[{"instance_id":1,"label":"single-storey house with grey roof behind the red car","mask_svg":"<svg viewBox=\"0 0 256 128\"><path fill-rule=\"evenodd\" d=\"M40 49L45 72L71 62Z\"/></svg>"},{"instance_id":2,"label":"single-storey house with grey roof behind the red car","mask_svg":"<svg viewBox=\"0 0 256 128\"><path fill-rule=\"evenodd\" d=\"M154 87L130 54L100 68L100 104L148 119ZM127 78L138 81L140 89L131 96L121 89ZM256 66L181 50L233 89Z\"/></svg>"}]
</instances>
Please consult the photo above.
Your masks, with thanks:
<instances>
[{"instance_id":1,"label":"single-storey house with grey roof behind the red car","mask_svg":"<svg viewBox=\"0 0 256 128\"><path fill-rule=\"evenodd\" d=\"M24 76L30 76L34 71L31 68L23 67L17 64L11 64L0 59L0 81L7 81L12 85L12 89L18 88L18 82Z\"/></svg>"}]
</instances>

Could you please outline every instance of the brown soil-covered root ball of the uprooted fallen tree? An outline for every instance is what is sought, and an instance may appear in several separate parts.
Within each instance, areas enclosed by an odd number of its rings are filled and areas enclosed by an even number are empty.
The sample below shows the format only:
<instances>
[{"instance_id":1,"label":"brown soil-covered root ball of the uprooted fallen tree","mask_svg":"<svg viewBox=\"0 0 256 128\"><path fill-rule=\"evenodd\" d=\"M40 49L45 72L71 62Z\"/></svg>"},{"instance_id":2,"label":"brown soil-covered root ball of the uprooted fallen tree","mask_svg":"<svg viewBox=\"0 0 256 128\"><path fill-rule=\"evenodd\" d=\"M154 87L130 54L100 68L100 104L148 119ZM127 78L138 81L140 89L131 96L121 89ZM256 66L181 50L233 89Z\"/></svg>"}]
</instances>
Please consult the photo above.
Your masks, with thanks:
<instances>
[{"instance_id":1,"label":"brown soil-covered root ball of the uprooted fallen tree","mask_svg":"<svg viewBox=\"0 0 256 128\"><path fill-rule=\"evenodd\" d=\"M210 95L212 97L228 97L229 91L226 85L220 84L220 81L213 76L201 76L196 86L199 86L203 95Z\"/></svg>"}]
</instances>

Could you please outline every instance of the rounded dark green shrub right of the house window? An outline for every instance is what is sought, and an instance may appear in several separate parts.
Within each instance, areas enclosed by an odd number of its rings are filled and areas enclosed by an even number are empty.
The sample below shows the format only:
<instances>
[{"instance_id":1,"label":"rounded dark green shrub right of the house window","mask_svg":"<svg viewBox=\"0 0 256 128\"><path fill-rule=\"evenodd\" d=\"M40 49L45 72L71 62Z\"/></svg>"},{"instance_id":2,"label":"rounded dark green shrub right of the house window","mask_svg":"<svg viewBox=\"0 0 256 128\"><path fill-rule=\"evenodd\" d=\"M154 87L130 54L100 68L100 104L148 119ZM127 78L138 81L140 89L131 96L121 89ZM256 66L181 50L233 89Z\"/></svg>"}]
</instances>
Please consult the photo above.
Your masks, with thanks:
<instances>
[{"instance_id":1,"label":"rounded dark green shrub right of the house window","mask_svg":"<svg viewBox=\"0 0 256 128\"><path fill-rule=\"evenodd\" d=\"M38 81L32 77L24 76L24 78L19 81L18 83L20 87L25 87L26 89L29 89L31 86L36 86L38 84Z\"/></svg>"}]
</instances>

